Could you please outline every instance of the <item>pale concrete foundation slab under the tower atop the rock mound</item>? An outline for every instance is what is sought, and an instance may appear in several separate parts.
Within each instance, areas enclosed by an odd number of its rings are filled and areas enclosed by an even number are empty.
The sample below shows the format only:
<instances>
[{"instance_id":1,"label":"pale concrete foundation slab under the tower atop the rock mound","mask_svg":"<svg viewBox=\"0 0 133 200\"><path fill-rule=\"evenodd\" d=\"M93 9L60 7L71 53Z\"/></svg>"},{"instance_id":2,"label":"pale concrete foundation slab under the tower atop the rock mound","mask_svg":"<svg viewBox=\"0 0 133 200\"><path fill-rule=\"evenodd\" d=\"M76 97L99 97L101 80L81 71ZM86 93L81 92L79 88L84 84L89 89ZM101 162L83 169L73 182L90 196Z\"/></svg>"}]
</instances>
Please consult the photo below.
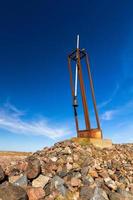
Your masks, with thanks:
<instances>
[{"instance_id":1,"label":"pale concrete foundation slab under the tower atop the rock mound","mask_svg":"<svg viewBox=\"0 0 133 200\"><path fill-rule=\"evenodd\" d=\"M99 148L109 148L112 147L112 140L110 139L97 139L97 138L79 138L75 137L72 138L73 142L77 142L81 145L87 145L87 144L92 144L95 147Z\"/></svg>"}]
</instances>

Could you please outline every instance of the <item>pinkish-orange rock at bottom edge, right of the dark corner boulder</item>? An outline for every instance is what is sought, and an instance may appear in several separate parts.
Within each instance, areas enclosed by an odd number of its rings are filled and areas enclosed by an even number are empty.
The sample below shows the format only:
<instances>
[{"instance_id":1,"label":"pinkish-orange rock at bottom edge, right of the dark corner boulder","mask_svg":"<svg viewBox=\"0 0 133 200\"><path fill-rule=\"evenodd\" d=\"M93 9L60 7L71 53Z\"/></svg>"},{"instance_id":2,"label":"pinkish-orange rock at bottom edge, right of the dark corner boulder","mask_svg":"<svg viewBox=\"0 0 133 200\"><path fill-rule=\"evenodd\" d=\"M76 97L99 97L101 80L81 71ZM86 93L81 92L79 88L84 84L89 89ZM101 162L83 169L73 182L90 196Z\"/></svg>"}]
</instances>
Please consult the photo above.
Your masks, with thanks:
<instances>
[{"instance_id":1,"label":"pinkish-orange rock at bottom edge, right of the dark corner boulder","mask_svg":"<svg viewBox=\"0 0 133 200\"><path fill-rule=\"evenodd\" d=\"M29 200L41 200L45 197L45 191L41 187L30 187L27 189Z\"/></svg>"}]
</instances>

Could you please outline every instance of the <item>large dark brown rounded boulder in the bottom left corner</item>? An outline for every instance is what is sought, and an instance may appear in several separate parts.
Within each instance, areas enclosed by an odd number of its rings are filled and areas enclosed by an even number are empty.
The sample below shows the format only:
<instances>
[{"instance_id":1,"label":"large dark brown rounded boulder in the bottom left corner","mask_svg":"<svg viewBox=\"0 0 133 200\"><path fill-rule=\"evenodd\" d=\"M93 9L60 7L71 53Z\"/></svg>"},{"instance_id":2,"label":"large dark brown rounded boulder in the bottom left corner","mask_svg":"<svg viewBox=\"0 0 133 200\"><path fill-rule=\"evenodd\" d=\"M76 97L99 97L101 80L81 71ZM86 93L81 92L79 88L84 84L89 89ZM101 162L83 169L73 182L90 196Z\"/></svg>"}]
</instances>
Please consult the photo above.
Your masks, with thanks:
<instances>
[{"instance_id":1,"label":"large dark brown rounded boulder in the bottom left corner","mask_svg":"<svg viewBox=\"0 0 133 200\"><path fill-rule=\"evenodd\" d=\"M26 191L14 185L0 186L0 198L2 200L28 200Z\"/></svg>"}]
</instances>

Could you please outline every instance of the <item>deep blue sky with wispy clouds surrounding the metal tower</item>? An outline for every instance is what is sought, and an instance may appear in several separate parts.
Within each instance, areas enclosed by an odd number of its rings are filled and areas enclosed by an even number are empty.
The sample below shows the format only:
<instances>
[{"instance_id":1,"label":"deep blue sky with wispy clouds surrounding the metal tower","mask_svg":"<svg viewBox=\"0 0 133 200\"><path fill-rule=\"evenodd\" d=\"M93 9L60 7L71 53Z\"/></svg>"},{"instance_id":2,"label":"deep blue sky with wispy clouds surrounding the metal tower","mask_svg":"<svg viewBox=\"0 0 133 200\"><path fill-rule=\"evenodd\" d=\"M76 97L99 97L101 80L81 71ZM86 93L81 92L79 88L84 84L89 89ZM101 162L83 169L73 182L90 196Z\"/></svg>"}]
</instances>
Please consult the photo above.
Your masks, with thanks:
<instances>
[{"instance_id":1,"label":"deep blue sky with wispy clouds surrounding the metal tower","mask_svg":"<svg viewBox=\"0 0 133 200\"><path fill-rule=\"evenodd\" d=\"M104 137L133 142L133 2L0 4L0 150L34 151L76 135L67 55L78 33Z\"/></svg>"}]
</instances>

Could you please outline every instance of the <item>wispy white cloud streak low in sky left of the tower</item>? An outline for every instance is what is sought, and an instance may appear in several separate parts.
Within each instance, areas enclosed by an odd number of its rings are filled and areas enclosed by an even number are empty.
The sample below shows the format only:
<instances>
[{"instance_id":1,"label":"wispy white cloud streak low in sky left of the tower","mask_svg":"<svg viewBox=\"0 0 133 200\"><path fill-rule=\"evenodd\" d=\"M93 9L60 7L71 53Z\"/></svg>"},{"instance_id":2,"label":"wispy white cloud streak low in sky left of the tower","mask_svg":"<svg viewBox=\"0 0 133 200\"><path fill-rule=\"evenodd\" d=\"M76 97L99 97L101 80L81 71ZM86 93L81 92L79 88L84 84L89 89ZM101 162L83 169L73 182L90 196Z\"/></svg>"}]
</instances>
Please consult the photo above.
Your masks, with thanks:
<instances>
[{"instance_id":1,"label":"wispy white cloud streak low in sky left of the tower","mask_svg":"<svg viewBox=\"0 0 133 200\"><path fill-rule=\"evenodd\" d=\"M51 139L70 134L66 124L52 123L45 118L24 120L24 112L10 103L0 108L0 128L17 134L42 135Z\"/></svg>"}]
</instances>

